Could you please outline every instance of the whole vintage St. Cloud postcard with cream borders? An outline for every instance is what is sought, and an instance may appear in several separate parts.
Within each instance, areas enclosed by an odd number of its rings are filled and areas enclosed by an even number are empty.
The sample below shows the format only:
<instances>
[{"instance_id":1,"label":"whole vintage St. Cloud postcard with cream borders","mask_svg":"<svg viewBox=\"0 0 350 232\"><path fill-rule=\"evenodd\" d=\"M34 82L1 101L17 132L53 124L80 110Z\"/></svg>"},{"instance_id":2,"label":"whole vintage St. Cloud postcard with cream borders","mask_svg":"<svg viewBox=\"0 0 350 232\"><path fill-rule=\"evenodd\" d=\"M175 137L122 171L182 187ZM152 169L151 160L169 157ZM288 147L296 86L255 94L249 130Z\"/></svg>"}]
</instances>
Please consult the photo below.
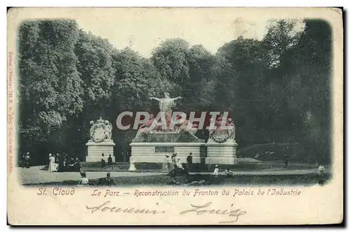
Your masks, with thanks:
<instances>
[{"instance_id":1,"label":"whole vintage St. Cloud postcard with cream borders","mask_svg":"<svg viewBox=\"0 0 350 232\"><path fill-rule=\"evenodd\" d=\"M342 223L342 17L10 8L8 223Z\"/></svg>"}]
</instances>

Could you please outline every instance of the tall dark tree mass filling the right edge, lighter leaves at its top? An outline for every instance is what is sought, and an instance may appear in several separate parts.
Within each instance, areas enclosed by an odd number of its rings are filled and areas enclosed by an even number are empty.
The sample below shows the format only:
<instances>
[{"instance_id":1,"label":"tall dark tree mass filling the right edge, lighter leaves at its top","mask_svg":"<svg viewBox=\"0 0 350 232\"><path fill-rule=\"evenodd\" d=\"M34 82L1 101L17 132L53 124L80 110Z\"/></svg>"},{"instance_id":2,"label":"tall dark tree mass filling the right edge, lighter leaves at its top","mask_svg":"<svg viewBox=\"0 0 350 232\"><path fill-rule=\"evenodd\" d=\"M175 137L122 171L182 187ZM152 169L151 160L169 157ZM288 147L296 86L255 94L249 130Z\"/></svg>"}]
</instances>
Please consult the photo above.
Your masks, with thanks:
<instances>
[{"instance_id":1,"label":"tall dark tree mass filling the right edge, lighter leaves at its top","mask_svg":"<svg viewBox=\"0 0 350 232\"><path fill-rule=\"evenodd\" d=\"M305 20L303 25L304 30L295 33L295 22L281 20L270 25L264 38L265 45L271 45L267 46L269 54L279 57L278 65L267 71L272 109L276 110L271 125L281 129L280 138L293 138L304 145L307 157L301 158L327 162L331 29L321 20Z\"/></svg>"}]
</instances>

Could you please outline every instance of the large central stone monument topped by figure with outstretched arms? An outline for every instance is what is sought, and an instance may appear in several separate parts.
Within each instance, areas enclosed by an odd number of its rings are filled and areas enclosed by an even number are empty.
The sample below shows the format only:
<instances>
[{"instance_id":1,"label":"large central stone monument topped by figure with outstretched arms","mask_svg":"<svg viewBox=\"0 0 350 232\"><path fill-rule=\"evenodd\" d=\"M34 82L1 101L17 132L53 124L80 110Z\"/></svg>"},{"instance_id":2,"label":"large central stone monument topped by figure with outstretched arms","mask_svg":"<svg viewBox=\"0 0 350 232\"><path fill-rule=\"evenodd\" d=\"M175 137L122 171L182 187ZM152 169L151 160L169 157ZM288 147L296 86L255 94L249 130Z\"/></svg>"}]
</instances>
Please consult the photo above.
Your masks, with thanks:
<instances>
[{"instance_id":1,"label":"large central stone monument topped by figure with outstretched arms","mask_svg":"<svg viewBox=\"0 0 350 232\"><path fill-rule=\"evenodd\" d=\"M172 109L181 96L170 98L169 93L165 92L165 98L151 97L151 99L159 102L160 113L164 113L165 122L162 126L154 126L155 116L151 115L148 122L139 127L137 136L130 143L132 150L130 168L134 170L135 163L163 163L166 154L176 154L176 159L186 163L190 152L192 152L193 164L200 163L203 150L201 147L205 148L205 143L204 140L195 136L197 124L191 124L186 119L181 124L170 126Z\"/></svg>"}]
</instances>

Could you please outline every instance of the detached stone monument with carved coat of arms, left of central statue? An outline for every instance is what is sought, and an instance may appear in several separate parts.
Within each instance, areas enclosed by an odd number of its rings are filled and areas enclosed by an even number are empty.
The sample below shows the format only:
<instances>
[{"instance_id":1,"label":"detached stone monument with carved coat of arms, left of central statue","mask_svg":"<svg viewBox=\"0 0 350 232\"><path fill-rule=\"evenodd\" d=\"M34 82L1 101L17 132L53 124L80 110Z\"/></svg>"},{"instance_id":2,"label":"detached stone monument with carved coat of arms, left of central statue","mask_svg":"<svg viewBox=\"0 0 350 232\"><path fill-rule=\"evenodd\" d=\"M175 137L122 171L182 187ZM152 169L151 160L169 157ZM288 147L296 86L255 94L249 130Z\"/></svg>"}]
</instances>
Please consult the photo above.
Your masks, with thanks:
<instances>
[{"instance_id":1,"label":"detached stone monument with carved coat of arms, left of central statue","mask_svg":"<svg viewBox=\"0 0 350 232\"><path fill-rule=\"evenodd\" d=\"M87 145L87 162L97 162L101 161L102 153L104 157L109 158L111 154L113 162L116 161L116 158L113 155L113 147L116 143L113 143L112 138L112 124L108 120L99 119L94 122L90 122L90 140L86 143Z\"/></svg>"}]
</instances>

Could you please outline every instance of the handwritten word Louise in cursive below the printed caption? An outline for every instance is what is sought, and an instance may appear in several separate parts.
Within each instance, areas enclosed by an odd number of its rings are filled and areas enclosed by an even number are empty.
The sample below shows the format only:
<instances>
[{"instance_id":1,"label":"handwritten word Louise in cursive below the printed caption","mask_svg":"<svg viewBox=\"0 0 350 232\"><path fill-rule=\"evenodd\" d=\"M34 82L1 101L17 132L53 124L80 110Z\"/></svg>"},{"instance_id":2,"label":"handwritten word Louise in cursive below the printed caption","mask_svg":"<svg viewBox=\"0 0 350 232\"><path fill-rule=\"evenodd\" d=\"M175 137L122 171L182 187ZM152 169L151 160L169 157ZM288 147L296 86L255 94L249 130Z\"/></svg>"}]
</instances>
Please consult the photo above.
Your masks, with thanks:
<instances>
[{"instance_id":1,"label":"handwritten word Louise in cursive below the printed caption","mask_svg":"<svg viewBox=\"0 0 350 232\"><path fill-rule=\"evenodd\" d=\"M211 202L205 203L204 205L193 205L191 204L190 210L183 210L180 212L181 215L184 215L186 213L195 213L196 215L204 215L204 214L215 214L215 215L228 215L228 217L232 217L232 220L220 222L220 223L232 223L237 222L239 217L246 214L246 211L240 210L240 209L229 209L229 210L216 210L216 209L209 209L209 206L211 205ZM233 204L231 205L231 207Z\"/></svg>"}]
</instances>

